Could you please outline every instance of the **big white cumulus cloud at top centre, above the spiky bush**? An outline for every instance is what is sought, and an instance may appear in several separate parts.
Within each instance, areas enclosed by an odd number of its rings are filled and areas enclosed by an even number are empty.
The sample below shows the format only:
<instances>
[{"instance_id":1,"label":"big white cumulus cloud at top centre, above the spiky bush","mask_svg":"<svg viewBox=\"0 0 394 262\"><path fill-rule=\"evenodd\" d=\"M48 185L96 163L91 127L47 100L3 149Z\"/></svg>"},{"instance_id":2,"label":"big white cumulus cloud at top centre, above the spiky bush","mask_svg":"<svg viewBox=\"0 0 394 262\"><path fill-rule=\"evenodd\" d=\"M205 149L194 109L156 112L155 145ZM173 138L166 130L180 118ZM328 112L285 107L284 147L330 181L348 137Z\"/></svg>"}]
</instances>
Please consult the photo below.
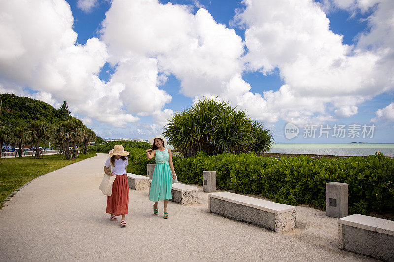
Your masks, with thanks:
<instances>
[{"instance_id":1,"label":"big white cumulus cloud at top centre, above the spiky bush","mask_svg":"<svg viewBox=\"0 0 394 262\"><path fill-rule=\"evenodd\" d=\"M189 97L222 93L242 71L241 37L203 8L194 15L186 6L157 0L114 0L102 39L112 64L122 66L140 56L156 60L158 73L175 75Z\"/></svg>"}]
</instances>

